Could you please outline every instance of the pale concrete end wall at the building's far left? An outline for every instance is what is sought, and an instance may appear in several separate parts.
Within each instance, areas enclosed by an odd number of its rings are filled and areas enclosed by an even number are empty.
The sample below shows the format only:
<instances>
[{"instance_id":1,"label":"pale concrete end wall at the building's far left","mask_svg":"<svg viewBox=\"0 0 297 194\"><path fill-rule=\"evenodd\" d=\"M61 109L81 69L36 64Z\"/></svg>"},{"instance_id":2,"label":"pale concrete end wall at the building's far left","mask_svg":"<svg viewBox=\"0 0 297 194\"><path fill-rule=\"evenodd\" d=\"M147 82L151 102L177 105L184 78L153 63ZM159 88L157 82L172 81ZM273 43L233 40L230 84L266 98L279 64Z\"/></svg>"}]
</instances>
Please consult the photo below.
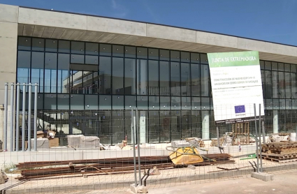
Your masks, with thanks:
<instances>
[{"instance_id":1,"label":"pale concrete end wall at the building's far left","mask_svg":"<svg viewBox=\"0 0 297 194\"><path fill-rule=\"evenodd\" d=\"M0 105L4 103L4 83L16 82L18 9L17 6L0 4L0 83L3 83L0 84ZM8 91L8 124L10 123L9 108L10 91ZM0 115L3 115L2 108ZM2 122L0 125L0 140L3 141ZM10 150L10 131L8 131L8 145L8 150Z\"/></svg>"}]
</instances>

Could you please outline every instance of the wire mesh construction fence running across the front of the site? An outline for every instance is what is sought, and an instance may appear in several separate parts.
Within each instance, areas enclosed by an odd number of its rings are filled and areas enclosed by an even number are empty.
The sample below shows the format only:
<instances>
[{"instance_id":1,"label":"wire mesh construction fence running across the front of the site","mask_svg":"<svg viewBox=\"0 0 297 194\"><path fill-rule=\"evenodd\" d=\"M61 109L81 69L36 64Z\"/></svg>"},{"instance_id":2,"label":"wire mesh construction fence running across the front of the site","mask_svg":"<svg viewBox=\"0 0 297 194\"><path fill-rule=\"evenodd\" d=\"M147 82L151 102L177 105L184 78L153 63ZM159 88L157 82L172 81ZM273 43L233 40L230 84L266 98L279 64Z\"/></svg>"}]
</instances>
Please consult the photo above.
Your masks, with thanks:
<instances>
[{"instance_id":1,"label":"wire mesh construction fence running across the front of the site","mask_svg":"<svg viewBox=\"0 0 297 194\"><path fill-rule=\"evenodd\" d=\"M254 112L254 105L245 109ZM228 124L217 124L213 110L43 110L36 119L20 111L20 131L7 130L8 149L0 153L8 177L0 190L112 193L131 184L150 190L296 169L294 110L273 111Z\"/></svg>"}]
</instances>

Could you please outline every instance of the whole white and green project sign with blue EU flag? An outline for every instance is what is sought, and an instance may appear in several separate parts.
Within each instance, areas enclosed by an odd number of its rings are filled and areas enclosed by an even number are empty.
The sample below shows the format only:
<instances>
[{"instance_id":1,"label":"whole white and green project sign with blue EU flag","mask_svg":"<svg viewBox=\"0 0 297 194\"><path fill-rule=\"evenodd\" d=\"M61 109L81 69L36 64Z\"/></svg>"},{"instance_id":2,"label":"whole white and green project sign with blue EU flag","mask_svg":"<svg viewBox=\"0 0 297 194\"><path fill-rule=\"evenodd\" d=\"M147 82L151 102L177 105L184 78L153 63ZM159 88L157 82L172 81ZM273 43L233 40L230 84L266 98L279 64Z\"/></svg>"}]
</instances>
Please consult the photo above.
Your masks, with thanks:
<instances>
[{"instance_id":1,"label":"whole white and green project sign with blue EU flag","mask_svg":"<svg viewBox=\"0 0 297 194\"><path fill-rule=\"evenodd\" d=\"M222 52L208 54L215 121L235 123L264 115L259 53Z\"/></svg>"}]
</instances>

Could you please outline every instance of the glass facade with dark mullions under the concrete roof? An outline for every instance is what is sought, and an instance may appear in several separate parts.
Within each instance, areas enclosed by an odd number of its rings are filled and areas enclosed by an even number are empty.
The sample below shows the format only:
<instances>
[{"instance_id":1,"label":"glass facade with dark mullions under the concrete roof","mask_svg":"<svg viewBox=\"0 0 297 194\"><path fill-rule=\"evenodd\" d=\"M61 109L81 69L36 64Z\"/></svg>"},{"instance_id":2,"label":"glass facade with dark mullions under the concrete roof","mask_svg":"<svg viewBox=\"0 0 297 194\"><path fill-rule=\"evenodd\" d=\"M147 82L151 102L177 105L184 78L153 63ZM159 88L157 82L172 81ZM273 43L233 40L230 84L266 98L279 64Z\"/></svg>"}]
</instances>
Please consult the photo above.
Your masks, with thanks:
<instances>
[{"instance_id":1,"label":"glass facade with dark mullions under the concrete roof","mask_svg":"<svg viewBox=\"0 0 297 194\"><path fill-rule=\"evenodd\" d=\"M296 73L294 64L261 61L267 133L296 130ZM20 36L17 82L38 83L38 127L61 138L129 142L132 107L142 142L216 137L203 53Z\"/></svg>"}]
</instances>

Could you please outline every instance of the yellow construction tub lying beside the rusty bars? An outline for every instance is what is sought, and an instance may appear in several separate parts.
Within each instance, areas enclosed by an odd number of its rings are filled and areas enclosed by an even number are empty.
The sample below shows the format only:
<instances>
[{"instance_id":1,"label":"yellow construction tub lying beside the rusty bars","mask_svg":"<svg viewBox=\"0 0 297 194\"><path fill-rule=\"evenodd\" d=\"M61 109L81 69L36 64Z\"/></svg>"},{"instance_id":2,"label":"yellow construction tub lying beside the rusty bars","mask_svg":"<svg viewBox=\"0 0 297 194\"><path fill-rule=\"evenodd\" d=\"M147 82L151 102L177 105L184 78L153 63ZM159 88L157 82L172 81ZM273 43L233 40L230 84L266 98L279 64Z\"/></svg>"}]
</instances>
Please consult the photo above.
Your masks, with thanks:
<instances>
[{"instance_id":1,"label":"yellow construction tub lying beside the rusty bars","mask_svg":"<svg viewBox=\"0 0 297 194\"><path fill-rule=\"evenodd\" d=\"M202 163L203 158L196 147L180 147L174 149L169 158L175 165L191 165L195 163Z\"/></svg>"}]
</instances>

